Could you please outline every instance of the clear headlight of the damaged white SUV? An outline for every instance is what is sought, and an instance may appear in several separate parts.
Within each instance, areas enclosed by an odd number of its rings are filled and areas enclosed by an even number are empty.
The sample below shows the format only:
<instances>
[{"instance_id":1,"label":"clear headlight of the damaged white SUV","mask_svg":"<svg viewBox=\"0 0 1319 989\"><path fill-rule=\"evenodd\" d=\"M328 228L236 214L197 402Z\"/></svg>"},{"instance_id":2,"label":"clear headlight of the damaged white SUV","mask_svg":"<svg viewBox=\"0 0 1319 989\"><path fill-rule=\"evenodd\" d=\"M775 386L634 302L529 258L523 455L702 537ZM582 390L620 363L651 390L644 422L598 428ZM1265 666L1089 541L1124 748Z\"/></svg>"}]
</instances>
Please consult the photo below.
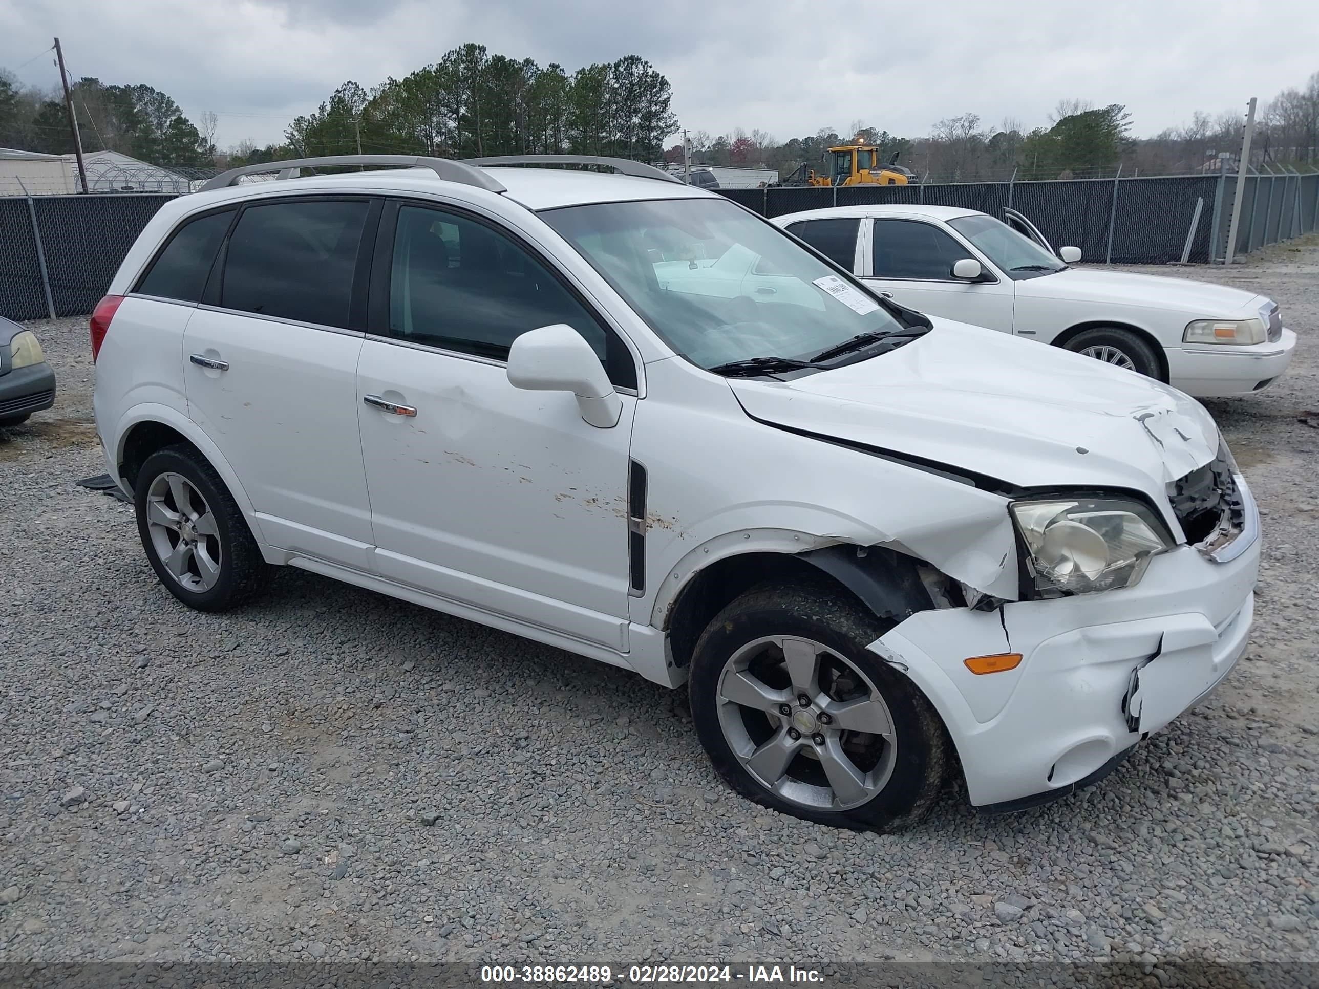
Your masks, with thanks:
<instances>
[{"instance_id":1,"label":"clear headlight of the damaged white SUV","mask_svg":"<svg viewBox=\"0 0 1319 989\"><path fill-rule=\"evenodd\" d=\"M1132 587L1150 558L1174 545L1150 509L1126 498L1049 498L1010 508L1037 591Z\"/></svg>"}]
</instances>

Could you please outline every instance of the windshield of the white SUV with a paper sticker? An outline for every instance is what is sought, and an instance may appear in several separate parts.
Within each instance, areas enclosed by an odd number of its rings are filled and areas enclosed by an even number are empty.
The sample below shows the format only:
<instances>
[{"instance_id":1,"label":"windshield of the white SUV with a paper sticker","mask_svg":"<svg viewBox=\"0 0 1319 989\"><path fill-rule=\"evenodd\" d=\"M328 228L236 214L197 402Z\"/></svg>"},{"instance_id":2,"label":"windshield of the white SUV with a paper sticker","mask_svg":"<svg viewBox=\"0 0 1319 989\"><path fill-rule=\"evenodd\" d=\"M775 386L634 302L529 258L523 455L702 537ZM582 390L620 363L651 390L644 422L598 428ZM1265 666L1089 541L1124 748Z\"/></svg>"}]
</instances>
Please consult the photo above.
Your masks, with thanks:
<instances>
[{"instance_id":1,"label":"windshield of the white SUV with a paper sticker","mask_svg":"<svg viewBox=\"0 0 1319 989\"><path fill-rule=\"evenodd\" d=\"M859 282L724 199L570 206L541 218L707 371L809 360L863 334L909 332Z\"/></svg>"}]
</instances>

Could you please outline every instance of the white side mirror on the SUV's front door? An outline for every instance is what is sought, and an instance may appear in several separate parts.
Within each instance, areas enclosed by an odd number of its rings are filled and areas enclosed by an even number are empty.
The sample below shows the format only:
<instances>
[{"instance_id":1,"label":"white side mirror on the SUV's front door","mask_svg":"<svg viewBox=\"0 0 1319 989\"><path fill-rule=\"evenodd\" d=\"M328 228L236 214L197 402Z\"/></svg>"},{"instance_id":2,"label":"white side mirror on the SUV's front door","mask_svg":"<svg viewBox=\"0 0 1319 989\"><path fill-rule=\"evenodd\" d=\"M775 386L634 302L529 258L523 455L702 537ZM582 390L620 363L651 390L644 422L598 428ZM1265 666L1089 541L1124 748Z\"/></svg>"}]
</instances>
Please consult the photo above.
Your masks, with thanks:
<instances>
[{"instance_id":1,"label":"white side mirror on the SUV's front door","mask_svg":"<svg viewBox=\"0 0 1319 989\"><path fill-rule=\"evenodd\" d=\"M623 400L609 384L600 359L582 334L567 323L522 334L508 351L508 382L528 392L571 392L582 418L598 429L612 429L623 415Z\"/></svg>"}]
</instances>

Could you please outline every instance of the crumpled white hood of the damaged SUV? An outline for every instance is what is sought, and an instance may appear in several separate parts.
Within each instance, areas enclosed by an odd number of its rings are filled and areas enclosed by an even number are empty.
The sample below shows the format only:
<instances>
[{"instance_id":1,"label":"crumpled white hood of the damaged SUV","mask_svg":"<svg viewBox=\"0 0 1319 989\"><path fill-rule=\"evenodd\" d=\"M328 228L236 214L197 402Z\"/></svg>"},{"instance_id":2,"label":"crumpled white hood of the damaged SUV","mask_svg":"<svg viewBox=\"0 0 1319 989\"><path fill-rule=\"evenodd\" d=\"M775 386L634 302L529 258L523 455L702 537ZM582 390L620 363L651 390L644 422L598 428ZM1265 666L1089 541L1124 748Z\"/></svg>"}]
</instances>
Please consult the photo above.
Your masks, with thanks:
<instances>
[{"instance_id":1,"label":"crumpled white hood of the damaged SUV","mask_svg":"<svg viewBox=\"0 0 1319 989\"><path fill-rule=\"evenodd\" d=\"M947 319L889 353L795 381L729 378L752 417L1017 487L1165 485L1212 460L1210 413L1174 388Z\"/></svg>"}]
</instances>

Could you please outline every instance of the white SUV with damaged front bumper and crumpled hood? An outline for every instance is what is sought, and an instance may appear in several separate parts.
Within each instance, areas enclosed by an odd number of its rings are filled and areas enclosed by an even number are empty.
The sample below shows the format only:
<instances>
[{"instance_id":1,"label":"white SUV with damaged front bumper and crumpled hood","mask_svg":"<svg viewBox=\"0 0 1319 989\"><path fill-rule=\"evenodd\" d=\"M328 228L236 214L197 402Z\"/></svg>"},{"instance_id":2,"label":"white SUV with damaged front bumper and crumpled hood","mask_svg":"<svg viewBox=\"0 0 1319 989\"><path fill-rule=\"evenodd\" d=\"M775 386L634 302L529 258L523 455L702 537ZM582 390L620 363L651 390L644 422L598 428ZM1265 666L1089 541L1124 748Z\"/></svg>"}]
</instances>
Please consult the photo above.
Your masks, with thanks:
<instances>
[{"instance_id":1,"label":"white SUV with damaged front bumper and crumpled hood","mask_svg":"<svg viewBox=\"0 0 1319 989\"><path fill-rule=\"evenodd\" d=\"M625 174L489 167L574 161ZM1184 394L633 162L328 164L413 167L220 175L91 320L185 604L288 564L687 682L729 785L851 827L1071 793L1245 647L1258 516Z\"/></svg>"}]
</instances>

